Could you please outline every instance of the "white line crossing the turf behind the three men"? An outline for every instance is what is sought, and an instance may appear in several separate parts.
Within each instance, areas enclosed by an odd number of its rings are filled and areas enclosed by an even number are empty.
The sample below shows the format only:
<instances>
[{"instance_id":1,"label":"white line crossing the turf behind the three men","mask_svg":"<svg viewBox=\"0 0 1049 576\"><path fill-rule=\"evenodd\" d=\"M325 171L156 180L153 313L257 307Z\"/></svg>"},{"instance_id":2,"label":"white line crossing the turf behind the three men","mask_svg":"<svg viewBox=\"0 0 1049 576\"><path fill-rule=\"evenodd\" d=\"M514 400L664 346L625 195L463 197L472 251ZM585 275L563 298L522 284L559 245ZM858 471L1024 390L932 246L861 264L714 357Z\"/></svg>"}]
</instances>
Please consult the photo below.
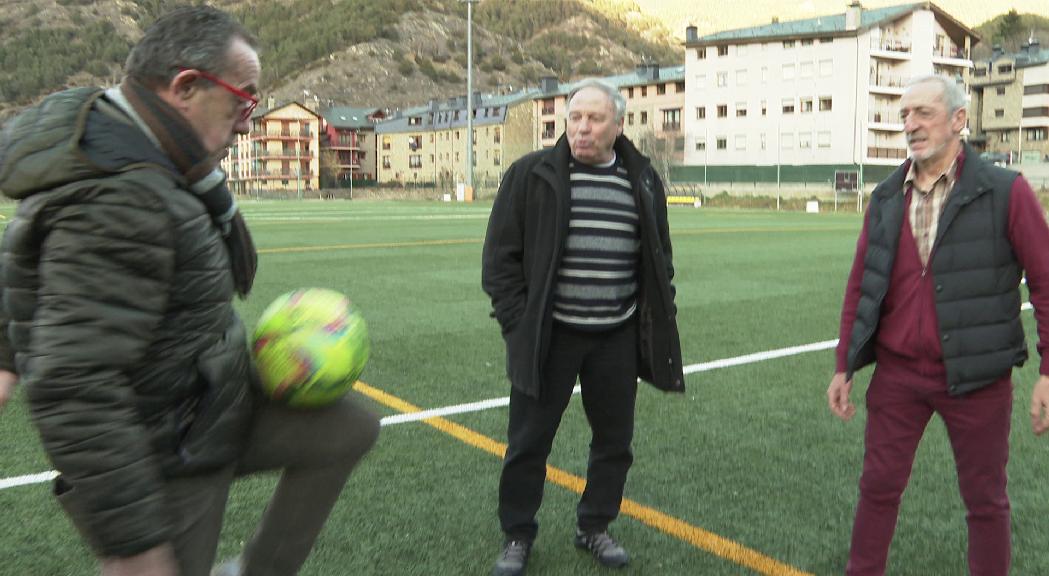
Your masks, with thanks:
<instances>
[{"instance_id":1,"label":"white line crossing the turf behind the three men","mask_svg":"<svg viewBox=\"0 0 1049 576\"><path fill-rule=\"evenodd\" d=\"M1024 304L1020 306L1020 310L1022 311L1031 310L1031 303L1024 302ZM689 364L685 366L684 371L685 374L705 372L718 368L727 368L730 366L740 366L743 364L753 364L755 362L765 362L766 360L773 360L776 358L785 358L788 356L796 356L799 354L806 354L811 351L826 350L829 348L833 348L837 345L838 345L837 339L825 340L822 342L813 342L812 344L802 344L800 346L790 346L788 348L779 348L776 350L766 350L755 354L748 354L746 356L737 356L735 358L724 358L722 360L714 360L712 362ZM579 393L579 386L576 386L572 390L572 393L574 394ZM469 404L456 404L454 406L446 406L444 408L433 408L431 410L421 410L419 412L388 415L382 419L380 423L382 426L392 426L394 424L419 422L421 420L427 420L437 417L465 414L469 412L479 412L481 410L488 410L490 408L499 408L509 405L510 405L510 397L493 398L491 400L471 402ZM55 479L55 476L57 475L58 472L51 470L48 472L41 472L39 474L15 476L10 478L0 478L0 490L5 490L7 488L15 488L17 486L26 486L30 484L43 484L45 482L50 482Z\"/></svg>"}]
</instances>

